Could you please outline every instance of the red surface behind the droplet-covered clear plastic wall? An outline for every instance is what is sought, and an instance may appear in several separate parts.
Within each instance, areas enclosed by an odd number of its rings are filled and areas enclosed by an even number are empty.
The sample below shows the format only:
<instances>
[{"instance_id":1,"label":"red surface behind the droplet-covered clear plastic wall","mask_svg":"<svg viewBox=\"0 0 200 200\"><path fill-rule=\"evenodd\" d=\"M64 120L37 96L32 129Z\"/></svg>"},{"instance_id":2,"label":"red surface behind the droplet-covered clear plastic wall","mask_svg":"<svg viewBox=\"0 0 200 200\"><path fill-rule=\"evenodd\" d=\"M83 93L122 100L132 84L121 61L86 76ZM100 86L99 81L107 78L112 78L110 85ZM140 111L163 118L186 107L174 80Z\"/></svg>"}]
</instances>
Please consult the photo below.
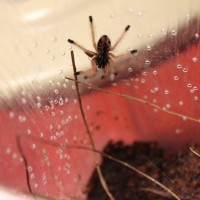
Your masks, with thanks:
<instances>
[{"instance_id":1,"label":"red surface behind the droplet-covered clear plastic wall","mask_svg":"<svg viewBox=\"0 0 200 200\"><path fill-rule=\"evenodd\" d=\"M177 77L178 80L174 80ZM147 70L138 78L104 89L145 98L161 107L167 106L169 110L200 119L199 77L200 48L192 46L187 52ZM155 88L158 88L157 92L153 92ZM127 144L135 140L152 140L173 149L200 141L200 123L155 111L149 105L95 91L83 96L82 101L99 150L109 140L123 140ZM25 122L19 122L20 116L26 117ZM16 145L17 134L43 136L50 142L56 139L58 143L90 146L78 103L69 102L48 110L1 110L0 122L0 184L20 191L28 191L28 187L25 165L20 160ZM57 137L53 137L55 135ZM70 196L84 197L82 192L94 169L91 152L61 149L23 137L21 147L28 162L34 193L63 196L65 199ZM48 162L50 166L47 166ZM62 187L59 186L60 181Z\"/></svg>"}]
</instances>

